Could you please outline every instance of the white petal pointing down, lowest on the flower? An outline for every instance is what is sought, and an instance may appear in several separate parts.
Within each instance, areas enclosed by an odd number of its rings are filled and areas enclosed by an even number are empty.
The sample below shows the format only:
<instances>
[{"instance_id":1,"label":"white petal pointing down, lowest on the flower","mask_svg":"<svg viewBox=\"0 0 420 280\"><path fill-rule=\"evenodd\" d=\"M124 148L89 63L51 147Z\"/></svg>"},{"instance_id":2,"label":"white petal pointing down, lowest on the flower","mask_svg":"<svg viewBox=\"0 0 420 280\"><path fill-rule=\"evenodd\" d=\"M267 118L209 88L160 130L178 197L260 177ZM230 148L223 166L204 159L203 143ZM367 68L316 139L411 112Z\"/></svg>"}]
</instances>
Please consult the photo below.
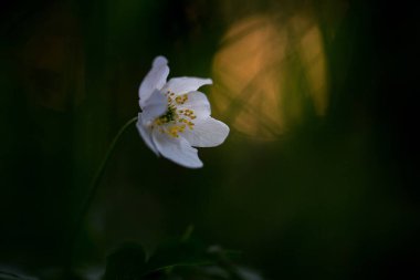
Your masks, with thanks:
<instances>
[{"instance_id":1,"label":"white petal pointing down, lowest on the flower","mask_svg":"<svg viewBox=\"0 0 420 280\"><path fill-rule=\"evenodd\" d=\"M191 147L185 138L175 138L155 129L153 132L153 139L164 157L188 168L202 167L202 162L198 158L197 149Z\"/></svg>"}]
</instances>

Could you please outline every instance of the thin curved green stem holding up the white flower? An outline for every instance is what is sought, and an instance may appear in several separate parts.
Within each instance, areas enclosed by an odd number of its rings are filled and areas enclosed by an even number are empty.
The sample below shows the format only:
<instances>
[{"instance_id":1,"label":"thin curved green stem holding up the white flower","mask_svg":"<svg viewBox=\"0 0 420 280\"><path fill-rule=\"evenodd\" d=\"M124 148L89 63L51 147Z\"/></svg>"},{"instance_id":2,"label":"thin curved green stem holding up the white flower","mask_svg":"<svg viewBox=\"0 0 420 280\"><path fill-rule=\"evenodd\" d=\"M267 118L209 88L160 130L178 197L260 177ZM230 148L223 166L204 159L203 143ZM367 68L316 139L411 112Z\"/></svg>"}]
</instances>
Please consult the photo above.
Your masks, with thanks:
<instances>
[{"instance_id":1,"label":"thin curved green stem holding up the white flower","mask_svg":"<svg viewBox=\"0 0 420 280\"><path fill-rule=\"evenodd\" d=\"M127 127L129 125L132 125L133 123L137 122L137 116L136 117L133 117L132 120L129 120L127 123L125 123L122 128L119 128L118 133L115 135L113 142L111 143L109 147L108 147L108 151L106 152L104 158L102 159L98 168L96 169L96 173L94 175L94 177L92 178L91 180L91 184L90 184L90 187L88 187L88 195L86 197L86 200L84 201L83 204L83 208L82 208L82 211L76 220L76 224L75 224L75 229L74 229L74 232L73 235L71 236L71 250L72 250L72 253L71 253L71 258L73 259L73 253L74 253L74 250L75 250L75 245L76 245L76 240L77 240L77 236L82 229L82 226L83 226L83 221L91 208L91 205L92 205L92 201L96 195L96 191L97 191L97 188L99 186L99 183L101 183L101 178L102 178L102 175L104 174L104 170L105 170L105 167L109 160L109 157L111 155L113 154L120 136L123 135L123 133L127 129Z\"/></svg>"}]
</instances>

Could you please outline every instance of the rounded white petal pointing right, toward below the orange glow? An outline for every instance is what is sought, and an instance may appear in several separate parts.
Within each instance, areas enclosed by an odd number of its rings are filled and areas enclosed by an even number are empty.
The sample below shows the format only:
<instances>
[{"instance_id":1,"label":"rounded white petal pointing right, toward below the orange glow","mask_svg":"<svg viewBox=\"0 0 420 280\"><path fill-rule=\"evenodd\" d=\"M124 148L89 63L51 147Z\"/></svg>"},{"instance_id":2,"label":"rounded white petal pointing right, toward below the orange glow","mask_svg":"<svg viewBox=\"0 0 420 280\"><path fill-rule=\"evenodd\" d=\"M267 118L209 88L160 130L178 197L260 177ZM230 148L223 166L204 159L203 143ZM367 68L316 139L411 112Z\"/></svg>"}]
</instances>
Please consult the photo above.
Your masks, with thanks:
<instances>
[{"instance_id":1,"label":"rounded white petal pointing right, toward below the orange glow","mask_svg":"<svg viewBox=\"0 0 420 280\"><path fill-rule=\"evenodd\" d=\"M193 129L187 129L182 133L182 137L195 147L214 147L222 144L228 134L228 125L212 117L207 117L196 122Z\"/></svg>"}]
</instances>

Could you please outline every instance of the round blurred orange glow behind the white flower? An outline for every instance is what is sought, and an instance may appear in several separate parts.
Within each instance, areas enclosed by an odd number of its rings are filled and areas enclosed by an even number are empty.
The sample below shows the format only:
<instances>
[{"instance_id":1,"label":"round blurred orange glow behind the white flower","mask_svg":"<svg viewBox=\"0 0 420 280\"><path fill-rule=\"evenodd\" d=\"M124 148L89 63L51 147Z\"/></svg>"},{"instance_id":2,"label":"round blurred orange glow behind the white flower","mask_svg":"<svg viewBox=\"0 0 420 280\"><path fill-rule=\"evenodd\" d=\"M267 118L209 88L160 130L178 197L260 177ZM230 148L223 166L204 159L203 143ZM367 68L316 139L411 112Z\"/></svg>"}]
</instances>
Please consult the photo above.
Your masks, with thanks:
<instances>
[{"instance_id":1,"label":"round blurred orange glow behind the white flower","mask_svg":"<svg viewBox=\"0 0 420 280\"><path fill-rule=\"evenodd\" d=\"M304 17L281 24L273 17L254 15L234 23L213 60L214 110L237 131L260 139L273 139L298 123L305 97L323 115L323 49L319 29Z\"/></svg>"}]
</instances>

